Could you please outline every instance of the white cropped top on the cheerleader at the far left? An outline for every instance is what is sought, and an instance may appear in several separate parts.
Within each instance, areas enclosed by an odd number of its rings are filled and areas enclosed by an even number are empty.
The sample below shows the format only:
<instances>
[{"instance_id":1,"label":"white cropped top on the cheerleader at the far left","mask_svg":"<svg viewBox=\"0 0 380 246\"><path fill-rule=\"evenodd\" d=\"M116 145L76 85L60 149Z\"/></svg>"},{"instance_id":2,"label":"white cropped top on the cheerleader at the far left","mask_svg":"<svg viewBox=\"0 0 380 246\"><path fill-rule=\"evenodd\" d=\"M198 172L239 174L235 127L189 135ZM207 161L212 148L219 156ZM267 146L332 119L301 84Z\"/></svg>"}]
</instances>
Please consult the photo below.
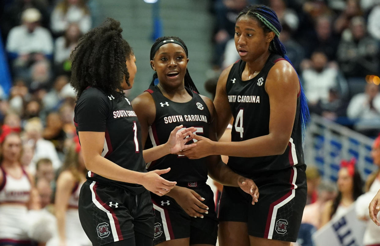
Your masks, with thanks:
<instances>
[{"instance_id":1,"label":"white cropped top on the cheerleader at the far left","mask_svg":"<svg viewBox=\"0 0 380 246\"><path fill-rule=\"evenodd\" d=\"M19 203L25 204L30 199L30 190L32 185L25 170L22 169L22 176L19 179L6 174L3 167L3 182L0 184L0 204L2 203Z\"/></svg>"}]
</instances>

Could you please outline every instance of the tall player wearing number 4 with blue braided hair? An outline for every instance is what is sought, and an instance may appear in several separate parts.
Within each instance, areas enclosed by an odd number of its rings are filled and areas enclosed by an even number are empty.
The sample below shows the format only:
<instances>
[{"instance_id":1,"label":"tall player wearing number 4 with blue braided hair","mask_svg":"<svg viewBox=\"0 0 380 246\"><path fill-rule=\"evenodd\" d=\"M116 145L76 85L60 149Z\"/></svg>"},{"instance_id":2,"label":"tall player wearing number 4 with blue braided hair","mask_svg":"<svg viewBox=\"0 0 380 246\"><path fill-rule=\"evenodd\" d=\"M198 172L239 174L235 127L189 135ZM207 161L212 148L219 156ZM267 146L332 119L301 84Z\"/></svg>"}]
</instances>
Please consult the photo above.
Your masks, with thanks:
<instances>
[{"instance_id":1,"label":"tall player wearing number 4 with blue braided hair","mask_svg":"<svg viewBox=\"0 0 380 246\"><path fill-rule=\"evenodd\" d=\"M234 118L231 143L194 135L189 158L228 155L228 166L255 181L260 199L224 186L219 207L221 246L290 245L306 204L302 129L308 118L298 75L279 41L282 27L267 6L248 6L237 17L235 45L241 60L219 77L214 100L221 136Z\"/></svg>"}]
</instances>

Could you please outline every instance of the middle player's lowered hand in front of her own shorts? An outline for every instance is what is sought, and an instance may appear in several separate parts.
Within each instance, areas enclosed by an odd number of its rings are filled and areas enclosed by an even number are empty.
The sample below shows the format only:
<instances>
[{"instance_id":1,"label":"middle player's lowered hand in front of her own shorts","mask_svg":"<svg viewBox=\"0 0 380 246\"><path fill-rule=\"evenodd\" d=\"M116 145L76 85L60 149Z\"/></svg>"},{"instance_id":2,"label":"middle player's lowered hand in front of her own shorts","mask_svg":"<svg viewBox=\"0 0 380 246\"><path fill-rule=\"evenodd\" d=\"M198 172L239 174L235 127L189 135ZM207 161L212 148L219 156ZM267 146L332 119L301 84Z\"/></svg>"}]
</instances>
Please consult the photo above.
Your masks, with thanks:
<instances>
[{"instance_id":1,"label":"middle player's lowered hand in front of her own shorts","mask_svg":"<svg viewBox=\"0 0 380 246\"><path fill-rule=\"evenodd\" d=\"M209 208L202 203L204 198L191 189L176 186L167 195L176 200L189 216L203 218L202 213L208 213Z\"/></svg>"}]
</instances>

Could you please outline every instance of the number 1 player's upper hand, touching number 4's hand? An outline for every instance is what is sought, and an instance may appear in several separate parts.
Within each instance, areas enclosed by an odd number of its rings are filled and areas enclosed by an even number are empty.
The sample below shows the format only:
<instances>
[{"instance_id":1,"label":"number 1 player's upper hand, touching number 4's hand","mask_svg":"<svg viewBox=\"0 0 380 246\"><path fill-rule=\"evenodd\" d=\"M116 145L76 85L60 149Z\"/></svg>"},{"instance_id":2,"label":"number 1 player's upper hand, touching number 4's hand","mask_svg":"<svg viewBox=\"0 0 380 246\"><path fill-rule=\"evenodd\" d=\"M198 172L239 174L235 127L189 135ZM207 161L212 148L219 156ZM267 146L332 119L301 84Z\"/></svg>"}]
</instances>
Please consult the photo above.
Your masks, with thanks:
<instances>
[{"instance_id":1,"label":"number 1 player's upper hand, touching number 4's hand","mask_svg":"<svg viewBox=\"0 0 380 246\"><path fill-rule=\"evenodd\" d=\"M177 152L195 147L196 144L186 144L192 140L192 133L196 131L194 127L184 128L179 125L171 131L168 141L166 142L170 148L170 154L176 154ZM182 130L181 130L182 129Z\"/></svg>"}]
</instances>

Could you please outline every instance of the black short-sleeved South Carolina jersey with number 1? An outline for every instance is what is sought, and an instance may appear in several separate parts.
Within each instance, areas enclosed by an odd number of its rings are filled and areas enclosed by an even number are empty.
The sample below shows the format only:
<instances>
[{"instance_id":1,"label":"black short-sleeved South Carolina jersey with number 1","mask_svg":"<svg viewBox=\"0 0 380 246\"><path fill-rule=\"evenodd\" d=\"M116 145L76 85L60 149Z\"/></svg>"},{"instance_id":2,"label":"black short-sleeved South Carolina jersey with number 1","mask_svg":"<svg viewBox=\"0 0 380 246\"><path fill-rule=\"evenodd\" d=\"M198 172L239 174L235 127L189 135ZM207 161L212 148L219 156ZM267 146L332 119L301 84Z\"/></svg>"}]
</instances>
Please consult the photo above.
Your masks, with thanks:
<instances>
[{"instance_id":1,"label":"black short-sleeved South Carolina jersey with number 1","mask_svg":"<svg viewBox=\"0 0 380 246\"><path fill-rule=\"evenodd\" d=\"M141 126L126 97L117 95L117 92L106 94L97 88L87 88L75 106L74 124L77 133L105 132L101 156L123 168L146 172L141 149ZM107 179L90 171L87 179L121 186L135 194L145 191L141 185Z\"/></svg>"}]
</instances>

